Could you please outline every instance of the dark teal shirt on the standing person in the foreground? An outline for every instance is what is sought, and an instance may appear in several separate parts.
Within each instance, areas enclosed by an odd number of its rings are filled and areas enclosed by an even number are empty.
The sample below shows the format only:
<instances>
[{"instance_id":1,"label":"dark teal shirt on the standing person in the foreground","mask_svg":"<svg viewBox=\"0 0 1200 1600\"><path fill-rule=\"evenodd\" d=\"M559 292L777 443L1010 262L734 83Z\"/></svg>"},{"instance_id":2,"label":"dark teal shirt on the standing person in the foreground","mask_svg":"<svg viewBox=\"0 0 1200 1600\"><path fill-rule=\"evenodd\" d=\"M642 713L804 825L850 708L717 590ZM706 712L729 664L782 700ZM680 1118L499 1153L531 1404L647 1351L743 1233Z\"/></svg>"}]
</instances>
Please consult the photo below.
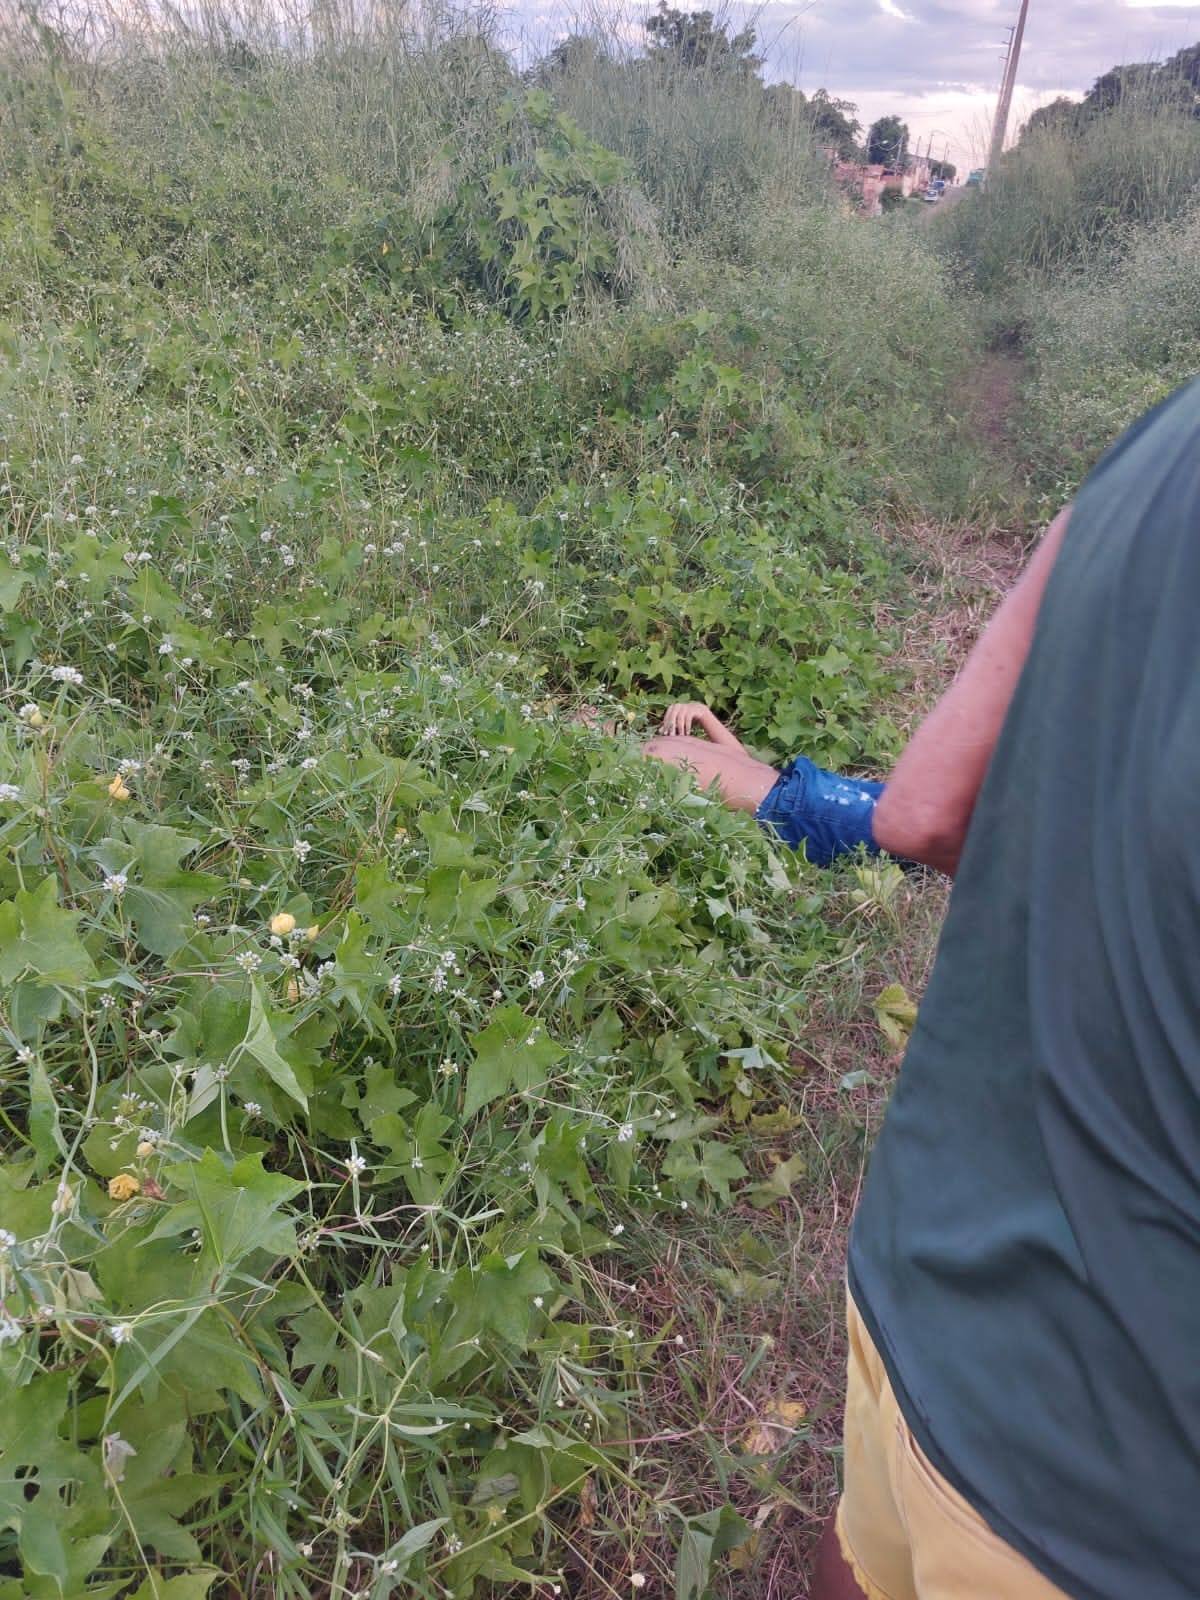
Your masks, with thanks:
<instances>
[{"instance_id":1,"label":"dark teal shirt on the standing person in the foreground","mask_svg":"<svg viewBox=\"0 0 1200 1600\"><path fill-rule=\"evenodd\" d=\"M1200 1595L1200 381L1077 498L850 1280L917 1440L1051 1582Z\"/></svg>"}]
</instances>

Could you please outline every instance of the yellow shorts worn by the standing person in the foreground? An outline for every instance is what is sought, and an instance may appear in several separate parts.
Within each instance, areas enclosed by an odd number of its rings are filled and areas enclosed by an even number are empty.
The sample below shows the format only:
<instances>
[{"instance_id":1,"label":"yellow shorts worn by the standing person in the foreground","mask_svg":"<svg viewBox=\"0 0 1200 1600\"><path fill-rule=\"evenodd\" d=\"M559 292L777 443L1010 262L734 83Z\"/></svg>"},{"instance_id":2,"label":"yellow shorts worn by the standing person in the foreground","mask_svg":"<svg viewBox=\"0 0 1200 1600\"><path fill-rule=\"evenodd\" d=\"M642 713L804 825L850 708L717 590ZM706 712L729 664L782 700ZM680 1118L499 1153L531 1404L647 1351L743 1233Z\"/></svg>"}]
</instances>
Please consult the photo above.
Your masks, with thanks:
<instances>
[{"instance_id":1,"label":"yellow shorts worn by the standing person in the foreground","mask_svg":"<svg viewBox=\"0 0 1200 1600\"><path fill-rule=\"evenodd\" d=\"M848 1301L842 1555L867 1600L1067 1600L930 1466Z\"/></svg>"}]
</instances>

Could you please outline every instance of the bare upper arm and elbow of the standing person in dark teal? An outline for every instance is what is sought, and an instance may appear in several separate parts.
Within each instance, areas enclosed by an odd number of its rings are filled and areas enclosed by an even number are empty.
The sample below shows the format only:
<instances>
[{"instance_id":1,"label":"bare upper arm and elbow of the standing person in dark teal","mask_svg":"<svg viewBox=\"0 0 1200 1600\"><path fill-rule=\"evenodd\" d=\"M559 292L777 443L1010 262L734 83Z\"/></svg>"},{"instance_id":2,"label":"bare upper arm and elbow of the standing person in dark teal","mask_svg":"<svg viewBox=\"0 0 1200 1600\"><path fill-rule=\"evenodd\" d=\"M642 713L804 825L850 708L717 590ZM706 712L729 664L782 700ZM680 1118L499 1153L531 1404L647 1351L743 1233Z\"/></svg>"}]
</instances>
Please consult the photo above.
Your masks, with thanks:
<instances>
[{"instance_id":1,"label":"bare upper arm and elbow of the standing person in dark teal","mask_svg":"<svg viewBox=\"0 0 1200 1600\"><path fill-rule=\"evenodd\" d=\"M890 854L954 875L1069 515L1067 507L1050 525L966 666L896 763L872 818L875 842Z\"/></svg>"}]
</instances>

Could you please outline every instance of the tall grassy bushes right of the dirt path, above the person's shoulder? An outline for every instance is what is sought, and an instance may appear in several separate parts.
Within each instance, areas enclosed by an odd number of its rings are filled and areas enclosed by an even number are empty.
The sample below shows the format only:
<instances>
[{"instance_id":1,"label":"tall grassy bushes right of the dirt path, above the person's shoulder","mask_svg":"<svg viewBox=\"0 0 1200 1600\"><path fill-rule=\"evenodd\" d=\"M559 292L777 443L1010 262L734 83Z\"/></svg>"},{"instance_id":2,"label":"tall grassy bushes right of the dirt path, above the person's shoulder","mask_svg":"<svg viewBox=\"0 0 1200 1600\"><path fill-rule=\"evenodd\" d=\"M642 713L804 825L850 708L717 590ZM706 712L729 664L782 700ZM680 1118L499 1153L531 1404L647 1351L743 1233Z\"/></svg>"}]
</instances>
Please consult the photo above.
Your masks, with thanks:
<instances>
[{"instance_id":1,"label":"tall grassy bushes right of the dirt path, above the person's shoulder","mask_svg":"<svg viewBox=\"0 0 1200 1600\"><path fill-rule=\"evenodd\" d=\"M1200 365L1200 46L1106 72L1030 117L987 187L931 230L1029 363L1014 438L1045 512Z\"/></svg>"}]
</instances>

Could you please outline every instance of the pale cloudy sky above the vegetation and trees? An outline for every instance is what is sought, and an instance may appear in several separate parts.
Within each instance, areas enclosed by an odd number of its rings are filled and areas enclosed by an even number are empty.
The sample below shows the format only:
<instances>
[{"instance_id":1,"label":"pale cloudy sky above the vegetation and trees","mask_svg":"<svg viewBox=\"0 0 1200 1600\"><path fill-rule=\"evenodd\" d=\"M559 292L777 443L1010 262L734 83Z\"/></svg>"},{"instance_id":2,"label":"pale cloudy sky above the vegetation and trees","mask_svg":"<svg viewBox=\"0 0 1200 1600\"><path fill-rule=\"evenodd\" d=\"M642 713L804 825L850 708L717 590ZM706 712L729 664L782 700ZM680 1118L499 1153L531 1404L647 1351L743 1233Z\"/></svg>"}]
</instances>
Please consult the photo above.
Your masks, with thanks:
<instances>
[{"instance_id":1,"label":"pale cloudy sky above the vegetation and trees","mask_svg":"<svg viewBox=\"0 0 1200 1600\"><path fill-rule=\"evenodd\" d=\"M1005 43L1021 0L766 0L747 10L718 0L672 0L683 11L709 8L749 18L766 53L765 75L811 93L827 88L854 101L864 126L901 115L912 144L933 138L933 154L960 168L982 165L1003 70ZM590 0L632 42L653 10ZM536 19L542 37L570 30L555 0L502 5ZM568 13L570 14L570 13ZM1082 94L1120 61L1158 61L1200 42L1200 3L1192 0L1029 0L1029 21L1013 98L1010 138L1037 106Z\"/></svg>"}]
</instances>

